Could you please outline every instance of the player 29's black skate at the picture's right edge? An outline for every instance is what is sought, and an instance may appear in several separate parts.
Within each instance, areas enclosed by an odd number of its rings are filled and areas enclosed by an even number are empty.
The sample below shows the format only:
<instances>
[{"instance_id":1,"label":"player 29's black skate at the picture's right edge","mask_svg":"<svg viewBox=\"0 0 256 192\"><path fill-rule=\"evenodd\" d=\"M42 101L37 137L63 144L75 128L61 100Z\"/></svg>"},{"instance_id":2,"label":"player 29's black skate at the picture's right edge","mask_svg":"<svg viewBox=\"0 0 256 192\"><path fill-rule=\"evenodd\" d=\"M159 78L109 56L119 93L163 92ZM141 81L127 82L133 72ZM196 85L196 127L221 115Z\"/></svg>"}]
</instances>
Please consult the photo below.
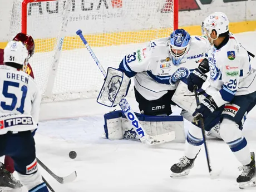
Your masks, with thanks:
<instances>
[{"instance_id":1,"label":"player 29's black skate at the picture's right edge","mask_svg":"<svg viewBox=\"0 0 256 192\"><path fill-rule=\"evenodd\" d=\"M240 166L239 171L243 171L237 178L237 183L240 189L256 186L256 173L255 173L255 156L254 152L250 152L252 161L248 165Z\"/></svg>"}]
</instances>

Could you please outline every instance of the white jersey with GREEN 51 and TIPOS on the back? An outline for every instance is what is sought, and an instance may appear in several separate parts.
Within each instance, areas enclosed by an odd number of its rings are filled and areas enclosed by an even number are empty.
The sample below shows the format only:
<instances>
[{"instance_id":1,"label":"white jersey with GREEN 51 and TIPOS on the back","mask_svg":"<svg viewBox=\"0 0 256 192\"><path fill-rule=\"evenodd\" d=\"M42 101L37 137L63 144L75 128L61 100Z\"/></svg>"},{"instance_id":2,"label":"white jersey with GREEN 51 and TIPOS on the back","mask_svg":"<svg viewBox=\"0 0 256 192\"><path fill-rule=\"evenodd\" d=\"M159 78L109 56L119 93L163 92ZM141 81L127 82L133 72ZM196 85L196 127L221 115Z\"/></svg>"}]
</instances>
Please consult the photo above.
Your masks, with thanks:
<instances>
[{"instance_id":1,"label":"white jersey with GREEN 51 and TIPOS on the back","mask_svg":"<svg viewBox=\"0 0 256 192\"><path fill-rule=\"evenodd\" d=\"M0 66L0 135L37 129L41 92L32 77Z\"/></svg>"}]
</instances>

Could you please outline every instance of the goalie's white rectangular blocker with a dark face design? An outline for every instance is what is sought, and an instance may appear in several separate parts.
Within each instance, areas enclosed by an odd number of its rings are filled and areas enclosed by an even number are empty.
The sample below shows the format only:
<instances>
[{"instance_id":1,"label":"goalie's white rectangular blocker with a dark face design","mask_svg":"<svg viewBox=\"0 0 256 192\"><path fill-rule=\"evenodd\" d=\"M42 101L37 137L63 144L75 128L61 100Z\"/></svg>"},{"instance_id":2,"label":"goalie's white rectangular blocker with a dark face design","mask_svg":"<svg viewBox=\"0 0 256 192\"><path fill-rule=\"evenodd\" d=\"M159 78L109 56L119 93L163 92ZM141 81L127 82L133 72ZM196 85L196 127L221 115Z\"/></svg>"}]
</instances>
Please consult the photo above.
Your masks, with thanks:
<instances>
[{"instance_id":1,"label":"goalie's white rectangular blocker with a dark face design","mask_svg":"<svg viewBox=\"0 0 256 192\"><path fill-rule=\"evenodd\" d=\"M115 107L123 96L127 95L131 80L124 72L107 68L107 76L101 88L97 102L108 107Z\"/></svg>"}]
</instances>

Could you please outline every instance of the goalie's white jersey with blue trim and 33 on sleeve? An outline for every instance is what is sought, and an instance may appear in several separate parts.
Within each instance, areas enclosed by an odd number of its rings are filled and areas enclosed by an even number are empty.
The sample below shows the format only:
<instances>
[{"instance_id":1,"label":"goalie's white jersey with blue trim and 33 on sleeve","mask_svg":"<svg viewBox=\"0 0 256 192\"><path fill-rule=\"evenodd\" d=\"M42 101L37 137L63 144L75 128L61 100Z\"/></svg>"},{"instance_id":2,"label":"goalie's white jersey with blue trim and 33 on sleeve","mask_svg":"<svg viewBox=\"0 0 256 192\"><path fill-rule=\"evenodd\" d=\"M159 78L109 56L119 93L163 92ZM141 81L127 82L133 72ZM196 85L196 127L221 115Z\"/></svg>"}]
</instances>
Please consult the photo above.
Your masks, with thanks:
<instances>
[{"instance_id":1,"label":"goalie's white jersey with blue trim and 33 on sleeve","mask_svg":"<svg viewBox=\"0 0 256 192\"><path fill-rule=\"evenodd\" d=\"M179 80L188 77L206 56L206 39L191 36L191 46L180 64L175 66L167 42L170 37L151 41L121 61L119 70L134 77L137 91L149 101L157 100L169 90L175 90Z\"/></svg>"}]
</instances>

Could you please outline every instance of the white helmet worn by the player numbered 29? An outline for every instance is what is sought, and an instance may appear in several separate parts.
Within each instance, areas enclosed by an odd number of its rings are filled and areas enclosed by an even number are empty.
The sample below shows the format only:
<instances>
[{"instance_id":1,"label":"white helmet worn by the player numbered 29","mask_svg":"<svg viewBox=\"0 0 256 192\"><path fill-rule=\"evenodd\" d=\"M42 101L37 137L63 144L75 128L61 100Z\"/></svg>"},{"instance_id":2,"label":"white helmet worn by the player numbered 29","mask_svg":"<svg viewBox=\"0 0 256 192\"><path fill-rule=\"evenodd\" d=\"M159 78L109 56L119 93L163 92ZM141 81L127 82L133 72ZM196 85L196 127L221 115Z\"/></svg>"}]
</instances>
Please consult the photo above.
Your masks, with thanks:
<instances>
[{"instance_id":1,"label":"white helmet worn by the player numbered 29","mask_svg":"<svg viewBox=\"0 0 256 192\"><path fill-rule=\"evenodd\" d=\"M202 26L202 31L204 32L204 35L210 37L210 34L211 32L213 32L213 29L215 29L217 33L216 38L218 38L220 34L229 31L229 21L225 13L211 13L208 17L204 19ZM211 40L216 40L216 38L211 38Z\"/></svg>"}]
</instances>

